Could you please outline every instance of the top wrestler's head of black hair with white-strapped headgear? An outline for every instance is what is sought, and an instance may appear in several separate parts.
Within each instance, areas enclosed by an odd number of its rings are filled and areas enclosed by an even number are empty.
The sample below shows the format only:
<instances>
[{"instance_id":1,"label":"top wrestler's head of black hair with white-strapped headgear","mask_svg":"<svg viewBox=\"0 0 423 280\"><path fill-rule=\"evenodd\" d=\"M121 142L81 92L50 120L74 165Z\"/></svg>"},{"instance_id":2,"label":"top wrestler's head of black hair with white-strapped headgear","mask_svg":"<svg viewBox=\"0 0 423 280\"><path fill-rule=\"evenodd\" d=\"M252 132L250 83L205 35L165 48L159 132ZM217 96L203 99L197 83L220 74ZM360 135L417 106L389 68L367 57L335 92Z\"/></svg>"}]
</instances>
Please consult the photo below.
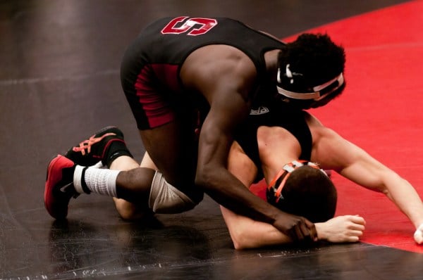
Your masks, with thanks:
<instances>
[{"instance_id":1,"label":"top wrestler's head of black hair with white-strapped headgear","mask_svg":"<svg viewBox=\"0 0 423 280\"><path fill-rule=\"evenodd\" d=\"M301 34L278 54L278 93L291 103L311 103L345 88L345 50L328 34ZM326 102L327 103L327 102Z\"/></svg>"}]
</instances>

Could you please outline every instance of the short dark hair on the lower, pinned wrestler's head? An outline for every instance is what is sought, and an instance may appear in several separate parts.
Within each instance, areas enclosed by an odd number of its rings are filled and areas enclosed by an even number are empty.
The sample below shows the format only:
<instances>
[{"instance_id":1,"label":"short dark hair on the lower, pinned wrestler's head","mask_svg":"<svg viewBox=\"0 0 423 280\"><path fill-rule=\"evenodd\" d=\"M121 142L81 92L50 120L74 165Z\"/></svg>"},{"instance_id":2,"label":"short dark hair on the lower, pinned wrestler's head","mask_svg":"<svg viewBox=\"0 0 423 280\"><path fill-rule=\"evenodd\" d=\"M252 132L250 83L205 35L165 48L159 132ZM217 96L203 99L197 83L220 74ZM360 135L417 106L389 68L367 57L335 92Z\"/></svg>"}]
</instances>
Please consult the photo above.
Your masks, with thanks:
<instances>
[{"instance_id":1,"label":"short dark hair on the lower, pinned wrestler's head","mask_svg":"<svg viewBox=\"0 0 423 280\"><path fill-rule=\"evenodd\" d=\"M267 189L267 201L284 212L326 222L335 215L337 192L331 178L316 167L304 165L288 173L280 197L276 191ZM286 176L288 175L286 174ZM276 185L283 182L283 176Z\"/></svg>"}]
</instances>

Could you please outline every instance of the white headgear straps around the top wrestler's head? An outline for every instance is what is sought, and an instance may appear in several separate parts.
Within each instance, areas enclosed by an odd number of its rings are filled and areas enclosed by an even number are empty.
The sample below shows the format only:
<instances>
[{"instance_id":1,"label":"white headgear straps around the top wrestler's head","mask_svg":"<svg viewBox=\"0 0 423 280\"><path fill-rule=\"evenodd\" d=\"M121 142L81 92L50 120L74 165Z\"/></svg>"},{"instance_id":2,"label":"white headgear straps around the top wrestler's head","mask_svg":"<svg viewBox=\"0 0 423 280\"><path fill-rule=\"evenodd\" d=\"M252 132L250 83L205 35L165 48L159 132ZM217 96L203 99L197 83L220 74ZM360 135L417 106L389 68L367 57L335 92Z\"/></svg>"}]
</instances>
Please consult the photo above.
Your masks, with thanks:
<instances>
[{"instance_id":1,"label":"white headgear straps around the top wrestler's head","mask_svg":"<svg viewBox=\"0 0 423 280\"><path fill-rule=\"evenodd\" d=\"M291 72L289 69L290 65L286 65L285 75L286 77L290 78L290 83L293 84L294 77L295 76L302 76L300 73ZM278 84L282 83L281 79L281 68L278 68ZM321 94L321 91L324 91L324 89L327 89L331 87L334 83L337 83L335 87L333 87L328 92ZM324 84L320 84L316 87L313 87L313 92L295 92L295 91L288 91L287 89L283 89L282 87L279 87L276 85L276 88L278 89L278 94L282 94L283 96L286 96L288 98L293 99L300 99L300 100L314 100L319 101L329 94L331 94L333 91L336 91L336 89L339 89L344 83L343 73L339 74L338 76L334 77L333 79L329 80L328 82L325 82Z\"/></svg>"}]
</instances>

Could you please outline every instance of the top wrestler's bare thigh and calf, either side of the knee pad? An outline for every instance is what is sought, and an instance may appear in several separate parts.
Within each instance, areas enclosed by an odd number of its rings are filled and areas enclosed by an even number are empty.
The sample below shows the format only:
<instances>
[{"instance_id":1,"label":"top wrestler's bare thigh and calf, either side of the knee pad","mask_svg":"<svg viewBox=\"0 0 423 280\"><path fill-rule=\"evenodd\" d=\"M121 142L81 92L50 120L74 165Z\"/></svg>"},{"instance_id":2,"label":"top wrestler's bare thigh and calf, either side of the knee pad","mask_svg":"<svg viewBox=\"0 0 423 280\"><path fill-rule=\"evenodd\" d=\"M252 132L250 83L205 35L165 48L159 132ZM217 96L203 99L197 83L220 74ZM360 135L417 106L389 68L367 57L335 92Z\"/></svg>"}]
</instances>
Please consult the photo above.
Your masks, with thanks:
<instances>
[{"instance_id":1,"label":"top wrestler's bare thigh and calf, either side of the knee pad","mask_svg":"<svg viewBox=\"0 0 423 280\"><path fill-rule=\"evenodd\" d=\"M202 193L194 187L197 144L192 122L183 120L183 117L178 117L166 125L140 130L140 136L166 184L187 194L192 201L199 202ZM147 187L149 192L154 174L147 174L147 170L150 169L140 167L121 172L116 181L118 197L140 198Z\"/></svg>"}]
</instances>

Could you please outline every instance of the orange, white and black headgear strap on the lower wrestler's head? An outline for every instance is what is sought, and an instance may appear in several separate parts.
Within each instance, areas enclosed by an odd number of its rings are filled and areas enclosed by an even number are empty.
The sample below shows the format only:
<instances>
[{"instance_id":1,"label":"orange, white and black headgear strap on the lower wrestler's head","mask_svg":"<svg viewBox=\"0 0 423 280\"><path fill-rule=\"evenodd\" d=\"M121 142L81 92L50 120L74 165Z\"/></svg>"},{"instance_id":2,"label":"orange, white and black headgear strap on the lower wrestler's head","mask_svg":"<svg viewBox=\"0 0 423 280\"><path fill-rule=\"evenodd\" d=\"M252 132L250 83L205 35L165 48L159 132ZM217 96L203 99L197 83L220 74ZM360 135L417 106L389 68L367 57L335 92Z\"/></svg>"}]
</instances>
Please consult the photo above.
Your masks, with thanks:
<instances>
[{"instance_id":1,"label":"orange, white and black headgear strap on the lower wrestler's head","mask_svg":"<svg viewBox=\"0 0 423 280\"><path fill-rule=\"evenodd\" d=\"M296 170L298 167L302 166L309 166L313 167L317 170L321 170L326 176L326 172L322 170L319 165L316 163L311 163L307 160L293 160L290 163L287 163L286 165L283 165L282 170L276 174L274 179L270 182L269 186L267 186L267 193L274 193L275 202L278 203L279 199L283 199L282 196L282 189L283 186L285 186L286 180L288 179L289 175Z\"/></svg>"}]
</instances>

